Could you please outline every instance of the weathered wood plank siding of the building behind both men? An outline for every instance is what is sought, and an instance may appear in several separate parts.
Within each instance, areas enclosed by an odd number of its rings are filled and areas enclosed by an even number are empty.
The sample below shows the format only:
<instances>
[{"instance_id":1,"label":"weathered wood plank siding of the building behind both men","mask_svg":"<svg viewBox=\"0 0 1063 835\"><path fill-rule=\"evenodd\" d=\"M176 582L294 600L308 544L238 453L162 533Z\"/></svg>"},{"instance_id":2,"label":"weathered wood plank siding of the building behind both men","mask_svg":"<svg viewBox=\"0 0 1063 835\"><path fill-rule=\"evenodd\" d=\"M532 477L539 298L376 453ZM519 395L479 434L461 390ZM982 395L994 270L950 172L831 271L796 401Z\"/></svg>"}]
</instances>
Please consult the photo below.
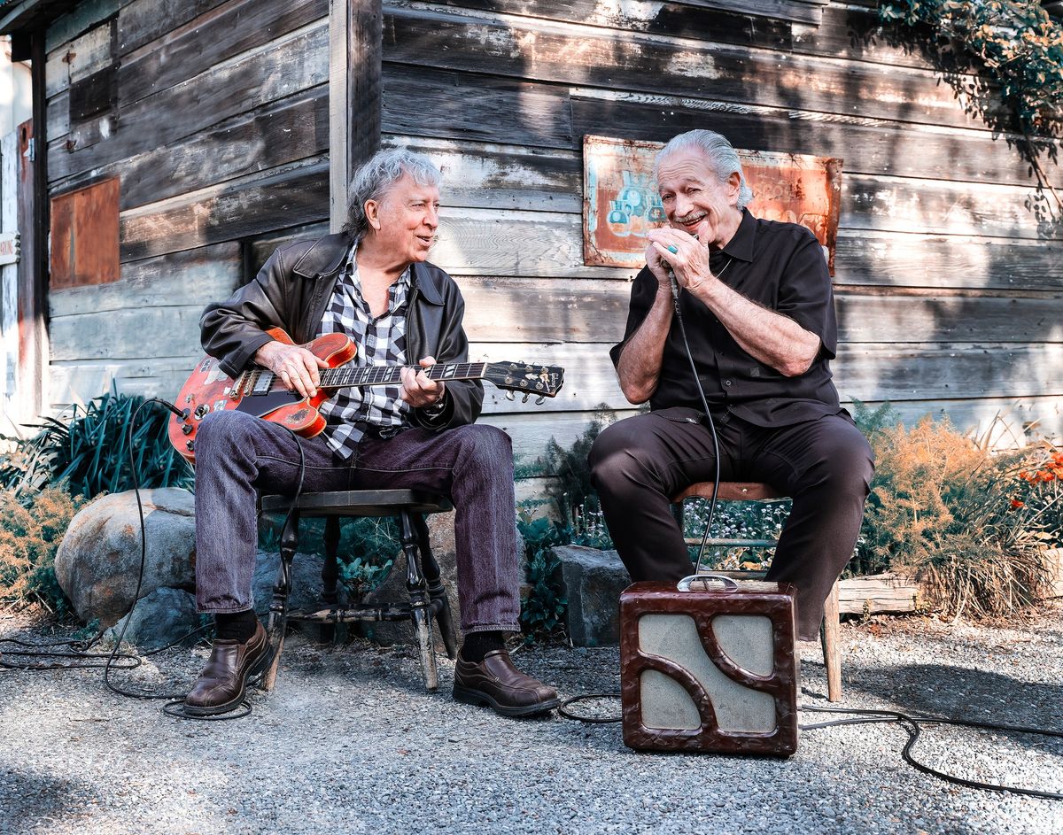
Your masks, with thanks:
<instances>
[{"instance_id":1,"label":"weathered wood plank siding of the building behind both men","mask_svg":"<svg viewBox=\"0 0 1063 835\"><path fill-rule=\"evenodd\" d=\"M98 19L79 8L83 25L53 28L49 171L53 192L122 177L122 280L53 293L56 405L112 375L175 391L202 306L328 216L326 0L95 5ZM600 403L629 409L606 352L634 271L583 266L583 135L699 126L844 158L843 398L1060 432L1061 233L1027 208L1008 137L874 37L864 5L386 0L385 142L443 170L433 260L461 283L473 353L567 368L547 406L489 393L487 420L522 455L573 437ZM77 116L79 85L112 65L112 110Z\"/></svg>"}]
</instances>

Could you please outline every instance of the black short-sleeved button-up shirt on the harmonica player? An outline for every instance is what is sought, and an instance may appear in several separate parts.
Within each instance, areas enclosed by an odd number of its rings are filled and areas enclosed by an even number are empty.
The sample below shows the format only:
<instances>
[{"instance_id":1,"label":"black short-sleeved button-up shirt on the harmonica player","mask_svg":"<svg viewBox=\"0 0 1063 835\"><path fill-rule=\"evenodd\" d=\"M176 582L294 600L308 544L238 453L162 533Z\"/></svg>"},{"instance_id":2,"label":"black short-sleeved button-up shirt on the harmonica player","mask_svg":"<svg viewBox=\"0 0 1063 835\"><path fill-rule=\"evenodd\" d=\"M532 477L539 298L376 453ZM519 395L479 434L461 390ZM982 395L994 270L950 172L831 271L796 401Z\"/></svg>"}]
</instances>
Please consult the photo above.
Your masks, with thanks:
<instances>
[{"instance_id":1,"label":"black short-sleeved button-up shirt on the harmonica player","mask_svg":"<svg viewBox=\"0 0 1063 835\"><path fill-rule=\"evenodd\" d=\"M811 368L786 377L743 351L720 320L690 293L680 310L705 396L714 414L731 412L757 426L789 426L841 411L828 361L838 347L830 273L815 236L796 223L754 218L742 210L738 232L710 258L712 272L731 289L794 320L820 337ZM635 277L624 341L609 352L615 365L657 294L657 278L643 268ZM673 317L652 410L702 408L679 325Z\"/></svg>"}]
</instances>

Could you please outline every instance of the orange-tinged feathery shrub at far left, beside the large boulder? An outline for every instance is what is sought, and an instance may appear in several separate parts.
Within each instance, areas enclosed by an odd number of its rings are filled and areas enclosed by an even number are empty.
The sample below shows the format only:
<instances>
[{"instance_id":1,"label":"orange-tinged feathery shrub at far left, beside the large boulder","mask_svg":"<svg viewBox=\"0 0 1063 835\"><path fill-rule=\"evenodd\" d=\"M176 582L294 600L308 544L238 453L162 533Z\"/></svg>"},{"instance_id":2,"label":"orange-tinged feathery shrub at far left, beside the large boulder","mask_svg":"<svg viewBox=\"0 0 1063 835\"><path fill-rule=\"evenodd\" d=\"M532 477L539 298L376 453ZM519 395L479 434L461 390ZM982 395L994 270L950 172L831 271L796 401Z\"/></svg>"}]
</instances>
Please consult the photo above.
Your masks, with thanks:
<instances>
[{"instance_id":1,"label":"orange-tinged feathery shrub at far left, beside the large boulder","mask_svg":"<svg viewBox=\"0 0 1063 835\"><path fill-rule=\"evenodd\" d=\"M55 551L84 500L46 488L22 504L0 491L0 602L39 603L63 614L69 603L55 580Z\"/></svg>"}]
</instances>

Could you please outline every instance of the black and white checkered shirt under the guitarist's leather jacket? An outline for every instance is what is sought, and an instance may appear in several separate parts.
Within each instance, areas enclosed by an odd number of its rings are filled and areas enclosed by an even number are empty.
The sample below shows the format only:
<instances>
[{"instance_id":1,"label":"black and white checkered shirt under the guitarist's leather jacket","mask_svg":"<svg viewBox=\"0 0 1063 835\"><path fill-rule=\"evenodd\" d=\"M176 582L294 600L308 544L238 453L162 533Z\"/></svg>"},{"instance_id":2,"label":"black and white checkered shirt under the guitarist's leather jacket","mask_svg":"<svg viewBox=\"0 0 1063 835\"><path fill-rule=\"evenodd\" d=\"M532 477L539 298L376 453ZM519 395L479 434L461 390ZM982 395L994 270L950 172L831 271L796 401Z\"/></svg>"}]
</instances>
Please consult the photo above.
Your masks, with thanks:
<instances>
[{"instance_id":1,"label":"black and white checkered shirt under the guitarist's leather jacket","mask_svg":"<svg viewBox=\"0 0 1063 835\"><path fill-rule=\"evenodd\" d=\"M409 297L409 268L388 289L388 307L373 319L361 295L356 260L357 244L347 256L343 272L325 307L318 336L347 334L358 346L354 365L396 365L406 363L406 308ZM350 458L365 436L356 423L401 427L407 423L409 405L400 398L402 386L372 386L340 389L320 406L327 421L325 439L343 458Z\"/></svg>"}]
</instances>

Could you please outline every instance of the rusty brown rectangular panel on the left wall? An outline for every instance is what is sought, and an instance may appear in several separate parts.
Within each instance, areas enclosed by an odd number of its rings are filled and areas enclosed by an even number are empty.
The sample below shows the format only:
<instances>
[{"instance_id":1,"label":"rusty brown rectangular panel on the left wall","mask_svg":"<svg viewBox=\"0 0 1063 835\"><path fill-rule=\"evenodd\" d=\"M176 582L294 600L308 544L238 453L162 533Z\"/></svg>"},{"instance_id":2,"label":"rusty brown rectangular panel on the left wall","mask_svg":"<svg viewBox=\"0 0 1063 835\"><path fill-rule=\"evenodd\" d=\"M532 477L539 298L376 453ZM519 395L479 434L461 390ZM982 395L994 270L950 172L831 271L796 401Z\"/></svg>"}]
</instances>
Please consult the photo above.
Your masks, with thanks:
<instances>
[{"instance_id":1,"label":"rusty brown rectangular panel on the left wall","mask_svg":"<svg viewBox=\"0 0 1063 835\"><path fill-rule=\"evenodd\" d=\"M120 277L118 177L52 199L51 288Z\"/></svg>"}]
</instances>

